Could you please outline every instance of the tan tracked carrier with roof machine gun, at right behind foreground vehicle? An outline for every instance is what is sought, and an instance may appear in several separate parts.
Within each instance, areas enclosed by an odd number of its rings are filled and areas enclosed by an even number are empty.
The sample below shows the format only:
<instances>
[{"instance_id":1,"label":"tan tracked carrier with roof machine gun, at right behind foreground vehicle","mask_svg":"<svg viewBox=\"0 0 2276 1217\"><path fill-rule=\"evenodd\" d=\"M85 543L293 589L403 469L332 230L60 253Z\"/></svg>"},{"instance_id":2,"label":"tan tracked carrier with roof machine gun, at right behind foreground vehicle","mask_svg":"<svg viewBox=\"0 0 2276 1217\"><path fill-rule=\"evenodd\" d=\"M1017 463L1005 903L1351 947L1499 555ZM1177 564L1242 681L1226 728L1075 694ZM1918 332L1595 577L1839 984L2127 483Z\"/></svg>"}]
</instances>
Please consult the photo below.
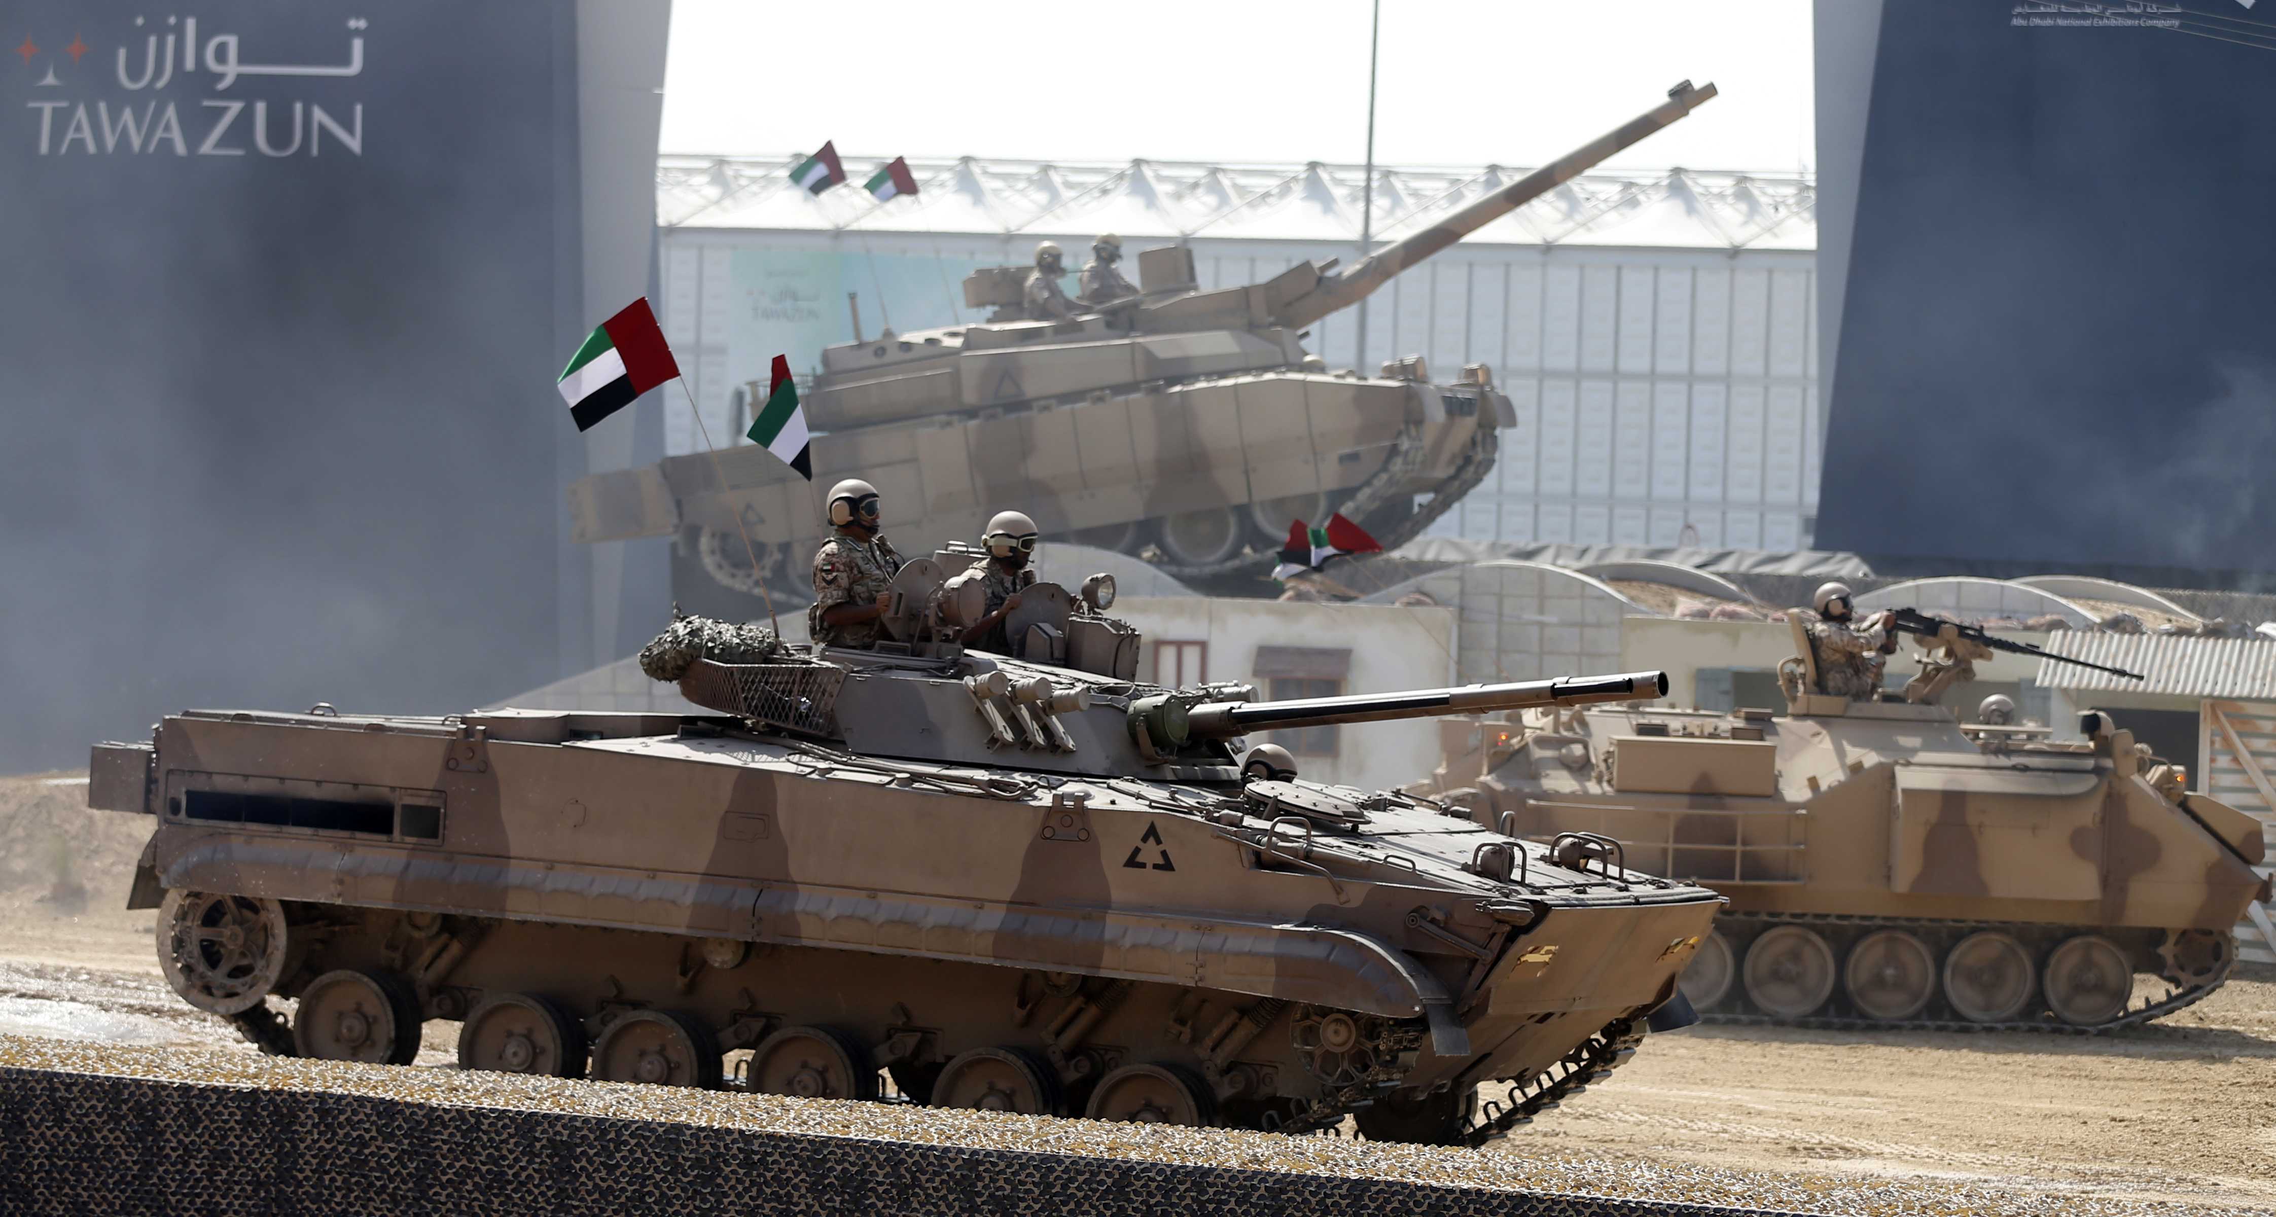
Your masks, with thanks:
<instances>
[{"instance_id":1,"label":"tan tracked carrier with roof machine gun, at right behind foreground vehicle","mask_svg":"<svg viewBox=\"0 0 2276 1217\"><path fill-rule=\"evenodd\" d=\"M2185 789L2108 712L2085 742L1960 726L1930 639L1921 701L1809 692L1791 616L1787 714L1525 710L1445 723L1409 787L1566 864L1705 883L1730 899L1684 974L1709 1021L2105 1030L2217 990L2267 899L2260 823Z\"/></svg>"}]
</instances>

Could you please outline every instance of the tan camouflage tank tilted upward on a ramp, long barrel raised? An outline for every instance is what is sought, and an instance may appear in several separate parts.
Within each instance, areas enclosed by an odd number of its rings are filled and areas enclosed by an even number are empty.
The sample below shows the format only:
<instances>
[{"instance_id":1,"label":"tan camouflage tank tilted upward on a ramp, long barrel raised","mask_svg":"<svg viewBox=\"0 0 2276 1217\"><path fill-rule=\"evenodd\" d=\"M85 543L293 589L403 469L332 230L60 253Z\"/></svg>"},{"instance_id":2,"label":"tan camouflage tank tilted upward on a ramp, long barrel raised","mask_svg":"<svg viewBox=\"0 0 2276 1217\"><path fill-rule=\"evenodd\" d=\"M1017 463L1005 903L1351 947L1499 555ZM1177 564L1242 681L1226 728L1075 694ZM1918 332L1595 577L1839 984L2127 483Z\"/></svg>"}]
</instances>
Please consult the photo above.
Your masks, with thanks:
<instances>
[{"instance_id":1,"label":"tan camouflage tank tilted upward on a ramp, long barrel raised","mask_svg":"<svg viewBox=\"0 0 2276 1217\"><path fill-rule=\"evenodd\" d=\"M894 535L920 548L974 537L1001 510L1026 512L1045 535L1154 550L1181 578L1256 562L1243 555L1275 553L1290 519L1318 523L1329 510L1397 546L1486 478L1514 409L1482 364L1452 382L1434 382L1420 357L1384 364L1382 378L1329 373L1300 346L1306 325L1714 93L1682 82L1621 130L1341 273L1302 262L1202 291L1190 248L1145 250L1140 296L1038 321L1022 309L1031 268L979 271L965 300L992 305L988 323L822 353L803 396L819 432L815 485L756 446L719 450L717 464L669 457L576 482L574 535L676 535L676 594L721 616L758 607L719 589L803 587L803 557L824 532L815 489L838 478L890 487L897 519L917 521Z\"/></svg>"}]
</instances>

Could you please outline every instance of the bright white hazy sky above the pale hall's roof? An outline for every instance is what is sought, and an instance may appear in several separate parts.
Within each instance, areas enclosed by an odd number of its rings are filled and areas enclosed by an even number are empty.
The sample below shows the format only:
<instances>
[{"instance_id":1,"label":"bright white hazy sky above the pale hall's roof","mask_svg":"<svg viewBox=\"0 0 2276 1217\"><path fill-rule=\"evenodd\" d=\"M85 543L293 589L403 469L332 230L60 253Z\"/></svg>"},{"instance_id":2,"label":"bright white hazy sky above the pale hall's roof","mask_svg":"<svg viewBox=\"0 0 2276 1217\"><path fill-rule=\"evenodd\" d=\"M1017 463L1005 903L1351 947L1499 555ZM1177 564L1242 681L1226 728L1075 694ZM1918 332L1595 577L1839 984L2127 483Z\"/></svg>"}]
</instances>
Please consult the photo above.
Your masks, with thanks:
<instances>
[{"instance_id":1,"label":"bright white hazy sky above the pale hall's roof","mask_svg":"<svg viewBox=\"0 0 2276 1217\"><path fill-rule=\"evenodd\" d=\"M1375 159L1541 164L1723 96L1607 164L1814 166L1807 0L1384 0ZM667 152L1359 162L1368 0L674 0Z\"/></svg>"}]
</instances>

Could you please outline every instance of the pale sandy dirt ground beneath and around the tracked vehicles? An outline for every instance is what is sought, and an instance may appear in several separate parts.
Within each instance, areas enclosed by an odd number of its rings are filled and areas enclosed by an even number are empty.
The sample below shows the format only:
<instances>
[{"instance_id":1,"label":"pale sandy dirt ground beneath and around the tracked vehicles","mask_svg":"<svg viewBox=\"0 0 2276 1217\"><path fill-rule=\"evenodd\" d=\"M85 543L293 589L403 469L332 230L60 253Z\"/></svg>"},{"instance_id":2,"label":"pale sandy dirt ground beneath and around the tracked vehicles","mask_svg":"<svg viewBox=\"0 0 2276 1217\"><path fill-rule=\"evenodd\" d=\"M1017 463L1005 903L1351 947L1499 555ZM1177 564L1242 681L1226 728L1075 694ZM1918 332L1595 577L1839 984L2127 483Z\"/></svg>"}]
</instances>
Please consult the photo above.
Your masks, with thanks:
<instances>
[{"instance_id":1,"label":"pale sandy dirt ground beneath and around the tracked vehicles","mask_svg":"<svg viewBox=\"0 0 2276 1217\"><path fill-rule=\"evenodd\" d=\"M150 821L84 794L80 773L0 778L0 1033L250 1051L173 999L152 912L121 908ZM428 1024L421 1065L455 1060L455 1033ZM1489 1153L2276 1210L2276 967L2098 1037L1657 1035Z\"/></svg>"}]
</instances>

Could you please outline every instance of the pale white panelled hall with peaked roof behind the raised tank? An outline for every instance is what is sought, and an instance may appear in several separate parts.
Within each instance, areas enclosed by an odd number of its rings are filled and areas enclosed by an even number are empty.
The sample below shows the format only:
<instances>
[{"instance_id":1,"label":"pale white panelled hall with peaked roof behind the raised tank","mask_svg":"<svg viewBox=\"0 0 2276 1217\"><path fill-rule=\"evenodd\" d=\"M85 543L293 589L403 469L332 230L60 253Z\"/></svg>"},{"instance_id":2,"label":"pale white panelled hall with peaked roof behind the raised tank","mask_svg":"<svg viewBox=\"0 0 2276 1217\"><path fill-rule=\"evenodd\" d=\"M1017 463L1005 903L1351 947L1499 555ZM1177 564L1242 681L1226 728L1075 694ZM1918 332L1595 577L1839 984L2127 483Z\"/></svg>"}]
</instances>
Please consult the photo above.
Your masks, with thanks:
<instances>
[{"instance_id":1,"label":"pale white panelled hall with peaked roof behind the raised tank","mask_svg":"<svg viewBox=\"0 0 2276 1217\"><path fill-rule=\"evenodd\" d=\"M774 355L806 373L851 341L851 305L865 334L979 321L963 278L1026 264L1038 241L1058 241L1070 271L1099 232L1131 252L1188 243L1202 287L1359 257L1361 166L913 157L917 193L876 202L860 182L885 157L844 157L851 182L822 196L790 182L801 159L658 164L665 332L712 437L735 434L733 394ZM1377 248L1523 173L1377 168ZM1518 425L1441 535L1807 548L1825 430L1814 200L1796 175L1591 173L1320 321L1306 346L1331 369L1493 369ZM667 450L694 450L685 407L665 416Z\"/></svg>"}]
</instances>

